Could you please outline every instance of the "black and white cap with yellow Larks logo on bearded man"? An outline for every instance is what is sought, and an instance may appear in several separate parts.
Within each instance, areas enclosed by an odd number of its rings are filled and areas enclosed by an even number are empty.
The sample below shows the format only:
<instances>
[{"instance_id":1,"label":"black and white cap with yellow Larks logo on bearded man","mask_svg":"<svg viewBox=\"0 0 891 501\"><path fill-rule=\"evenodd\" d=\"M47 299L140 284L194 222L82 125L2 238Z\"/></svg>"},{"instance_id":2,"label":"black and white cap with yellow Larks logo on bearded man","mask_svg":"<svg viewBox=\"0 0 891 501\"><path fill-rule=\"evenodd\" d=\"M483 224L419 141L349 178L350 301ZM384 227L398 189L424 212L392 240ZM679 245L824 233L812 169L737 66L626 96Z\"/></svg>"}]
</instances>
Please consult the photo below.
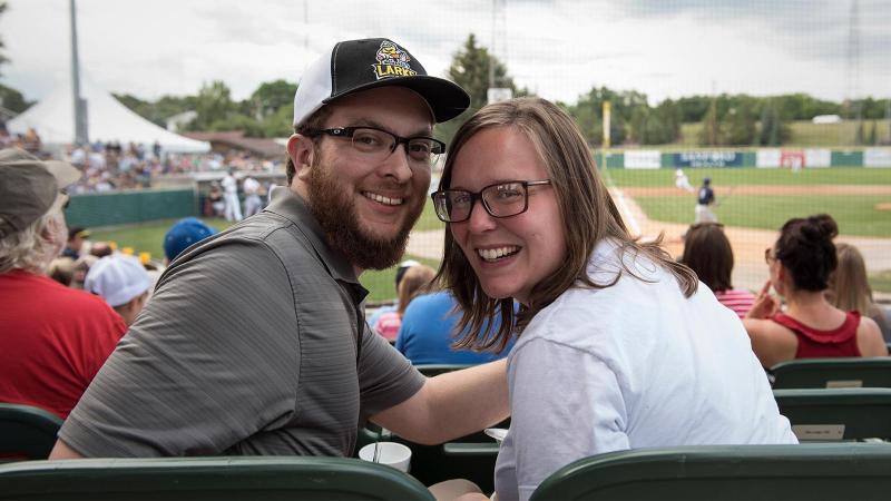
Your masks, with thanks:
<instances>
[{"instance_id":1,"label":"black and white cap with yellow Larks logo on bearded man","mask_svg":"<svg viewBox=\"0 0 891 501\"><path fill-rule=\"evenodd\" d=\"M386 38L341 41L310 65L294 95L294 125L337 98L379 87L399 86L420 95L437 122L470 106L459 85L431 77L404 47Z\"/></svg>"}]
</instances>

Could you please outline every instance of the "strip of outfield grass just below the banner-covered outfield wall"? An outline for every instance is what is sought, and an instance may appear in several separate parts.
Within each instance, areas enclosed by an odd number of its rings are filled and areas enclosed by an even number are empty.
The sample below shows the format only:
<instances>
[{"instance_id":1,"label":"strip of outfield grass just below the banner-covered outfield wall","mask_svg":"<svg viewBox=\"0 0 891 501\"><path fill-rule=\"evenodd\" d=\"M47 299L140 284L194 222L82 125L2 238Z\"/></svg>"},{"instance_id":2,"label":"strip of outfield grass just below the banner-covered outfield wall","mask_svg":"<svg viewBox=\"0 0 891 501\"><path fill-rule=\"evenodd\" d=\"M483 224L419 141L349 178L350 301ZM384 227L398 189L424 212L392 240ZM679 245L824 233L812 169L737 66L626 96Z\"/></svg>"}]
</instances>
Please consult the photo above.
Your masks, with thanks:
<instances>
[{"instance_id":1,"label":"strip of outfield grass just below the banner-covered outfield wall","mask_svg":"<svg viewBox=\"0 0 891 501\"><path fill-rule=\"evenodd\" d=\"M891 169L859 167L804 169L797 174L789 169L755 168L687 168L684 171L693 186L699 186L705 177L712 178L713 186L891 185ZM619 187L675 185L675 169L605 169L601 173Z\"/></svg>"}]
</instances>

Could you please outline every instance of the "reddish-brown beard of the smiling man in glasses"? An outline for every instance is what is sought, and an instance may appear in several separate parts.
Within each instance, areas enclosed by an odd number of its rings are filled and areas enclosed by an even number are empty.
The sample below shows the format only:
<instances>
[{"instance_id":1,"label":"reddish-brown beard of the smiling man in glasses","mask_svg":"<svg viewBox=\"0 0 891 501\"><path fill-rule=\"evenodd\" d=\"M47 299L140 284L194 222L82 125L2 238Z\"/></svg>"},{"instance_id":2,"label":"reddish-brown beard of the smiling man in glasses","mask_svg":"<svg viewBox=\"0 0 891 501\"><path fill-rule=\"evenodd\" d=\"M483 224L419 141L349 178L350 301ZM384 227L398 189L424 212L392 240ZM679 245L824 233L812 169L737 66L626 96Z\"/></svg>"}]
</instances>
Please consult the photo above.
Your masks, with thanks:
<instances>
[{"instance_id":1,"label":"reddish-brown beard of the smiling man in glasses","mask_svg":"<svg viewBox=\"0 0 891 501\"><path fill-rule=\"evenodd\" d=\"M399 233L389 239L381 239L369 235L359 220L355 200L350 198L343 186L331 176L329 169L319 161L310 168L309 206L313 216L319 220L325 233L329 245L346 256L346 259L362 269L385 269L402 258L409 233L420 217L423 205L414 208L413 214L405 218Z\"/></svg>"}]
</instances>

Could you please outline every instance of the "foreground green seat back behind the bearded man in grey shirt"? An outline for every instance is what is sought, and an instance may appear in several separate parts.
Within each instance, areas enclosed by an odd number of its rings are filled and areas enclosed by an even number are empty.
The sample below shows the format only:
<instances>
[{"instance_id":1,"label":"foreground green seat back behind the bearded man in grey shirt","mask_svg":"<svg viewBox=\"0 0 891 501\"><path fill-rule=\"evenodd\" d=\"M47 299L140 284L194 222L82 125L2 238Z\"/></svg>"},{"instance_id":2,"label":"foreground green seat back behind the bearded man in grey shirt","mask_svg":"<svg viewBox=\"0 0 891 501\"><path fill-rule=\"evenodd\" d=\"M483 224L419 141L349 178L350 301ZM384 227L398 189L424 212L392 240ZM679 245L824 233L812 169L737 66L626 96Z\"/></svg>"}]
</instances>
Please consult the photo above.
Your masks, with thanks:
<instances>
[{"instance_id":1,"label":"foreground green seat back behind the bearded man in grey shirt","mask_svg":"<svg viewBox=\"0 0 891 501\"><path fill-rule=\"evenodd\" d=\"M347 458L164 458L0 465L0 500L424 500L420 482Z\"/></svg>"}]
</instances>

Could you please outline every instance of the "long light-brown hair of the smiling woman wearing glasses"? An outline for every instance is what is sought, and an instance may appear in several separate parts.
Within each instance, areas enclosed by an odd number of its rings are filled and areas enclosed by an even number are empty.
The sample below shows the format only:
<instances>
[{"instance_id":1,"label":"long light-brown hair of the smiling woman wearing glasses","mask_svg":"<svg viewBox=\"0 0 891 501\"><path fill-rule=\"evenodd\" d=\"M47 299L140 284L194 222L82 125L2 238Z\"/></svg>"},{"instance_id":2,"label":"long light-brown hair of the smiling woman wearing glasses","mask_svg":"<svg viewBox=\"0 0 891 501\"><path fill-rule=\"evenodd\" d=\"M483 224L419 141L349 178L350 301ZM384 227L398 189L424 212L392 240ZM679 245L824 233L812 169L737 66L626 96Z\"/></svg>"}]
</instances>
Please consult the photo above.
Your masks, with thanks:
<instances>
[{"instance_id":1,"label":"long light-brown hair of the smiling woman wearing glasses","mask_svg":"<svg viewBox=\"0 0 891 501\"><path fill-rule=\"evenodd\" d=\"M588 259L604 238L614 238L623 252L644 254L668 269L684 295L696 292L696 275L659 247L662 236L649 243L639 243L630 236L578 126L564 110L545 99L511 99L489 105L473 115L452 139L439 189L450 187L456 158L467 141L482 130L498 127L522 132L547 168L560 207L566 259L532 287L529 305L515 313L512 298L493 299L486 295L461 247L447 230L446 254L438 278L452 292L462 312L457 331L468 332L454 343L456 347L502 351L512 335L519 336L538 312L569 288L614 285L619 275L611 283L595 284L587 274ZM627 267L624 272L631 273ZM482 332L483 325L496 315L501 316L501 326L495 335L488 335Z\"/></svg>"}]
</instances>

